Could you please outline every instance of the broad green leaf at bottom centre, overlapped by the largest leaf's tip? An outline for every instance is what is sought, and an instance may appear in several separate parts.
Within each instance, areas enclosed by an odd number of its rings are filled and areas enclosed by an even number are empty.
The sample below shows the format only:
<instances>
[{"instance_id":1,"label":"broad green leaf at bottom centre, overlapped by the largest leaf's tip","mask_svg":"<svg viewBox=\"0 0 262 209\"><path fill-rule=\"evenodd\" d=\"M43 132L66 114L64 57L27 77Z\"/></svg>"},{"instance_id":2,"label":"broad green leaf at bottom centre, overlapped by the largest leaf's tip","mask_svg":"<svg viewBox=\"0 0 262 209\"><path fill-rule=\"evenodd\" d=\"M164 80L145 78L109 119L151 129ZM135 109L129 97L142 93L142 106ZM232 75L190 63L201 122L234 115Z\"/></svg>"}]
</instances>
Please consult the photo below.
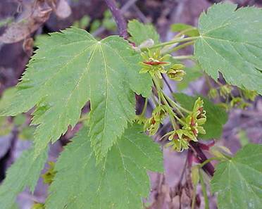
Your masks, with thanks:
<instances>
[{"instance_id":1,"label":"broad green leaf at bottom centre, overlapped by the largest leaf's tip","mask_svg":"<svg viewBox=\"0 0 262 209\"><path fill-rule=\"evenodd\" d=\"M135 125L96 165L87 129L83 128L58 158L46 209L143 208L149 194L147 170L162 172L163 157L158 144Z\"/></svg>"}]
</instances>

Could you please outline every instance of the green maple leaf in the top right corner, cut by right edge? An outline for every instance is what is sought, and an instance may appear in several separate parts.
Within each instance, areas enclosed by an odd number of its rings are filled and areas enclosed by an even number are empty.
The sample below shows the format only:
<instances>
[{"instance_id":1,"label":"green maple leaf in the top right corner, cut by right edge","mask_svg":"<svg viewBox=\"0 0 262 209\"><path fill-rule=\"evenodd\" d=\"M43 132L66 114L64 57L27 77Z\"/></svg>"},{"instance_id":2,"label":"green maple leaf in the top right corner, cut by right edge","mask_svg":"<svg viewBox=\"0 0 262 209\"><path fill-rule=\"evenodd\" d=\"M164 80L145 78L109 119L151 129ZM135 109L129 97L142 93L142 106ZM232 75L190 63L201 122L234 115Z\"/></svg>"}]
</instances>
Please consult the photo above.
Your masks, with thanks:
<instances>
[{"instance_id":1,"label":"green maple leaf in the top right corner, cut by right edge","mask_svg":"<svg viewBox=\"0 0 262 209\"><path fill-rule=\"evenodd\" d=\"M262 10L216 4L199 18L195 56L214 80L262 94Z\"/></svg>"}]
</instances>

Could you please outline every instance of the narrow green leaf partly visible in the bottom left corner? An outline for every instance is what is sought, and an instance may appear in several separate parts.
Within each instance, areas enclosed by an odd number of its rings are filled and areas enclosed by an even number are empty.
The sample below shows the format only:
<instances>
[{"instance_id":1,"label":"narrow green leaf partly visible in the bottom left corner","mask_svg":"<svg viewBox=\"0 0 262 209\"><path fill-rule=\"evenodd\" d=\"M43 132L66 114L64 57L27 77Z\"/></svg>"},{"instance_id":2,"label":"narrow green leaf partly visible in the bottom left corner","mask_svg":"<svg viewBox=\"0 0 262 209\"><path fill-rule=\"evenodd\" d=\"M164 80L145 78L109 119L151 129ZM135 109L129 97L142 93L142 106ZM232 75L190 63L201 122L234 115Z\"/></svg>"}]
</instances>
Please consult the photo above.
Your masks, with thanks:
<instances>
[{"instance_id":1,"label":"narrow green leaf partly visible in the bottom left corner","mask_svg":"<svg viewBox=\"0 0 262 209\"><path fill-rule=\"evenodd\" d=\"M11 209L16 196L27 186L34 191L41 170L47 159L47 148L37 156L33 148L24 151L22 156L11 165L7 171L6 179L0 185L1 208Z\"/></svg>"}]
</instances>

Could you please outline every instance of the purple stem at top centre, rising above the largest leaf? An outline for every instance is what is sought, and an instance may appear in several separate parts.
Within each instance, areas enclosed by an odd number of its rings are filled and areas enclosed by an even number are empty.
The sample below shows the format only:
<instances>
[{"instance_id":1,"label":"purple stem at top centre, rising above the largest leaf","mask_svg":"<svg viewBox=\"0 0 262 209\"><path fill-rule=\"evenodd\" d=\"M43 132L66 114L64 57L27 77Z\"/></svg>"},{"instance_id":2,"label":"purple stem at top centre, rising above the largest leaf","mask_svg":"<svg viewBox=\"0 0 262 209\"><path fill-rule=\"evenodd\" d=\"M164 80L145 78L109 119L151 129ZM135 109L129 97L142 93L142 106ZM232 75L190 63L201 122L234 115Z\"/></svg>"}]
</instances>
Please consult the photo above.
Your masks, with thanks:
<instances>
[{"instance_id":1,"label":"purple stem at top centre, rising above the largest leaf","mask_svg":"<svg viewBox=\"0 0 262 209\"><path fill-rule=\"evenodd\" d=\"M116 25L118 26L118 33L121 37L124 39L128 38L127 34L127 22L125 21L125 18L121 14L120 10L118 9L118 6L116 5L115 0L104 0L110 9L113 18L116 21Z\"/></svg>"}]
</instances>

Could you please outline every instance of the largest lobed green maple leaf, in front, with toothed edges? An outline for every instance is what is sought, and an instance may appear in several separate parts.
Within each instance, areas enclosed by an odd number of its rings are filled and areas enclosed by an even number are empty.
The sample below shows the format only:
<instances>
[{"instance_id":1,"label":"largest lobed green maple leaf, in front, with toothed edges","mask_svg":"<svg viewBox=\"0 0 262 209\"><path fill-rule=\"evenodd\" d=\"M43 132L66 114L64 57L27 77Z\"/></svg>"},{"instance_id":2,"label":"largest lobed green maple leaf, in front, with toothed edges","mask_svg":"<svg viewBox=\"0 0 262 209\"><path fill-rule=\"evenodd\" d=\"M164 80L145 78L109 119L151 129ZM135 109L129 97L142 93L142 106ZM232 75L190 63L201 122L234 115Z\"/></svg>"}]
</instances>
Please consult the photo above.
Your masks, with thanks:
<instances>
[{"instance_id":1,"label":"largest lobed green maple leaf, in front, with toothed edges","mask_svg":"<svg viewBox=\"0 0 262 209\"><path fill-rule=\"evenodd\" d=\"M32 124L38 125L38 154L77 123L90 100L89 136L101 158L135 117L134 92L151 93L151 78L139 74L139 61L139 54L118 36L96 41L77 28L52 33L39 43L9 102L2 101L8 105L1 115L17 115L37 105Z\"/></svg>"}]
</instances>

